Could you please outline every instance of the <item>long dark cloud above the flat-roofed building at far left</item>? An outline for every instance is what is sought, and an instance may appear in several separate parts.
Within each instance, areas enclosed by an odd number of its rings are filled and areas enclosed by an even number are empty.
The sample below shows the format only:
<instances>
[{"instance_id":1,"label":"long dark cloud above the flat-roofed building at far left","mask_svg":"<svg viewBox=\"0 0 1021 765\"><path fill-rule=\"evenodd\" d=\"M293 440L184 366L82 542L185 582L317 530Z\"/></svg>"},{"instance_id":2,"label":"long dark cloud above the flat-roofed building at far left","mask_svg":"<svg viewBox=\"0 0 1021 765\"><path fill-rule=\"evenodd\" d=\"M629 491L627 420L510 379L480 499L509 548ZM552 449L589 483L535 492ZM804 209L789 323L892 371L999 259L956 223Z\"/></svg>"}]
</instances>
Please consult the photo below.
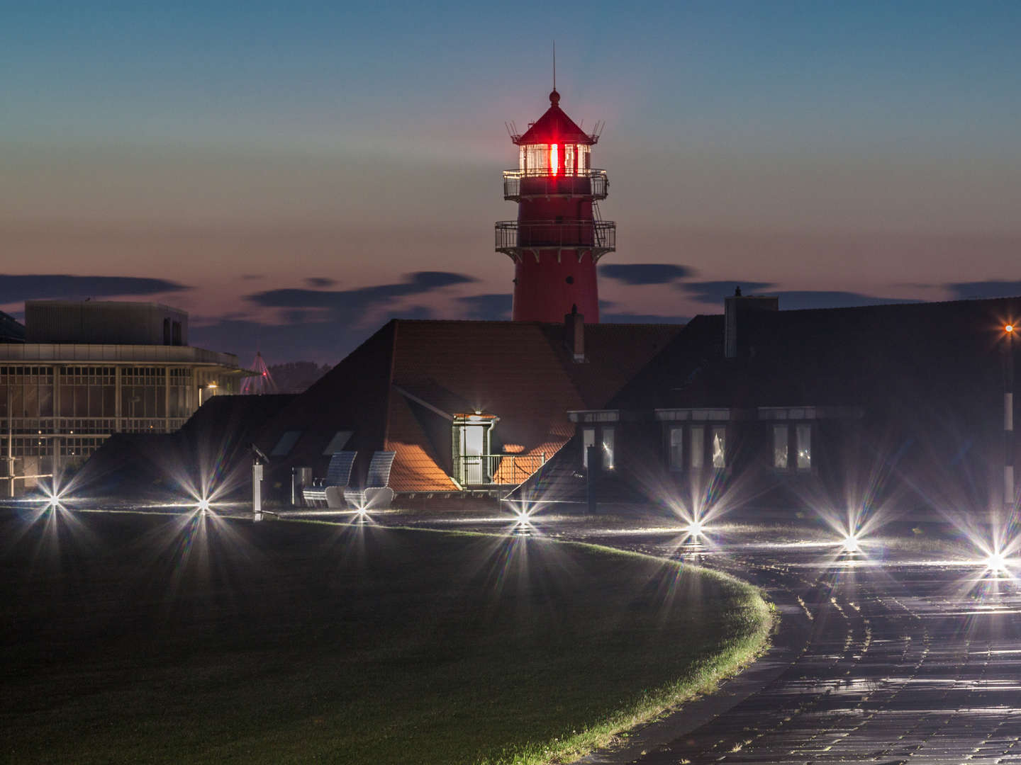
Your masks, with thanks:
<instances>
[{"instance_id":1,"label":"long dark cloud above the flat-roofed building at far left","mask_svg":"<svg viewBox=\"0 0 1021 765\"><path fill-rule=\"evenodd\" d=\"M68 273L0 274L0 305L22 300L76 300L157 295L192 288L164 278L141 276L75 276Z\"/></svg>"}]
</instances>

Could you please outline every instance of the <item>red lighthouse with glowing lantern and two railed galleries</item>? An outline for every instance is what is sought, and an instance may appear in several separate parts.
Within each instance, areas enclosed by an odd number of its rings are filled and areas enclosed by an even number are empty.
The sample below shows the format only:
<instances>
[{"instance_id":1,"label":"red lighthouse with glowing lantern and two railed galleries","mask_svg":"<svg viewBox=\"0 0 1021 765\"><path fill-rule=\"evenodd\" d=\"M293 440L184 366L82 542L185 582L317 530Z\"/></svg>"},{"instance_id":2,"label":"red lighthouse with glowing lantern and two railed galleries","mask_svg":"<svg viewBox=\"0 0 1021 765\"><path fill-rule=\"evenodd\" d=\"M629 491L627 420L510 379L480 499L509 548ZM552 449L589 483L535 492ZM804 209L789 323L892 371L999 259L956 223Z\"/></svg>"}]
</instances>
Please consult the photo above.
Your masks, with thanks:
<instances>
[{"instance_id":1,"label":"red lighthouse with glowing lantern and two railed galleries","mask_svg":"<svg viewBox=\"0 0 1021 765\"><path fill-rule=\"evenodd\" d=\"M549 94L549 108L528 131L512 134L518 169L503 172L503 198L518 203L517 220L496 223L496 251L515 262L515 321L563 321L565 314L599 320L595 264L617 249L616 223L599 218L606 172L593 169L586 134Z\"/></svg>"}]
</instances>

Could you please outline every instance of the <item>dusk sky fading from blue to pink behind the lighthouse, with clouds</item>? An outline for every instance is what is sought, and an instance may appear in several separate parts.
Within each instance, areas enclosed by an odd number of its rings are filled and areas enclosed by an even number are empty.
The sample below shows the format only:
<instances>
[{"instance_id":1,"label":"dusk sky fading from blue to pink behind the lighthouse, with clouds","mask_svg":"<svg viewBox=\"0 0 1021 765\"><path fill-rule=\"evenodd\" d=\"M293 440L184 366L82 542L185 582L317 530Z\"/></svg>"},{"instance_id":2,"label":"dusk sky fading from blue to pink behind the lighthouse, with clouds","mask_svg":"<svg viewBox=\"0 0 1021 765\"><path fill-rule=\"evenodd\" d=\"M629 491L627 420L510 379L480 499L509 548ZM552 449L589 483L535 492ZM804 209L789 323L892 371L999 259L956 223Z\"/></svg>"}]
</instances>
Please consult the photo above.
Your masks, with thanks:
<instances>
[{"instance_id":1,"label":"dusk sky fading from blue to pink behind the lighthouse, with clouds","mask_svg":"<svg viewBox=\"0 0 1021 765\"><path fill-rule=\"evenodd\" d=\"M602 320L1021 294L1016 2L0 0L0 310L153 300L335 363L505 318L504 122L605 120Z\"/></svg>"}]
</instances>

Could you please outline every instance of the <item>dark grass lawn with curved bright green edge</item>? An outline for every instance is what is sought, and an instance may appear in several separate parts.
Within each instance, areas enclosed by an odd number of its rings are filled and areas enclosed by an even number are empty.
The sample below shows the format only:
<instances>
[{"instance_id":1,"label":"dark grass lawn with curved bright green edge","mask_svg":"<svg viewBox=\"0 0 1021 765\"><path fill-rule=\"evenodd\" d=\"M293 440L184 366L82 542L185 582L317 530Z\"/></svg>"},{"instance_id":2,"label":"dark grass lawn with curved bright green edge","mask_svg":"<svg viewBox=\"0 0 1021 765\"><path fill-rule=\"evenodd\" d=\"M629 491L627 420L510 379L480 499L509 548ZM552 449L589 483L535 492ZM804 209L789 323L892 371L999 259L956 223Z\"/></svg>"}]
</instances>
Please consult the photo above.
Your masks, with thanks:
<instances>
[{"instance_id":1,"label":"dark grass lawn with curved bright green edge","mask_svg":"<svg viewBox=\"0 0 1021 765\"><path fill-rule=\"evenodd\" d=\"M735 580L539 538L0 512L8 762L538 763L770 626Z\"/></svg>"}]
</instances>

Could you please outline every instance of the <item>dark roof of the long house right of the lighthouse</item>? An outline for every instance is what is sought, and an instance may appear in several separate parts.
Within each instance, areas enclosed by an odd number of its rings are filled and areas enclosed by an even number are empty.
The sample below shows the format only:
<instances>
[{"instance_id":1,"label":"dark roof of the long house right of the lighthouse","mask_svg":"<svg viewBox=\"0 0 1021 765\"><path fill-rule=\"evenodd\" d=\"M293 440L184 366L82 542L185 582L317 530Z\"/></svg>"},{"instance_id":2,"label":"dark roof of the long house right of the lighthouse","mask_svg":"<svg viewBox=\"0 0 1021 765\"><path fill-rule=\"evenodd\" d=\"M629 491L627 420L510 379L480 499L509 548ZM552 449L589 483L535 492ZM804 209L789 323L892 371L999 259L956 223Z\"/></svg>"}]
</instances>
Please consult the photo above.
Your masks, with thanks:
<instances>
[{"instance_id":1,"label":"dark roof of the long house right of the lighthouse","mask_svg":"<svg viewBox=\"0 0 1021 765\"><path fill-rule=\"evenodd\" d=\"M996 391L1021 299L761 311L723 358L723 316L696 316L607 408L856 405Z\"/></svg>"}]
</instances>

